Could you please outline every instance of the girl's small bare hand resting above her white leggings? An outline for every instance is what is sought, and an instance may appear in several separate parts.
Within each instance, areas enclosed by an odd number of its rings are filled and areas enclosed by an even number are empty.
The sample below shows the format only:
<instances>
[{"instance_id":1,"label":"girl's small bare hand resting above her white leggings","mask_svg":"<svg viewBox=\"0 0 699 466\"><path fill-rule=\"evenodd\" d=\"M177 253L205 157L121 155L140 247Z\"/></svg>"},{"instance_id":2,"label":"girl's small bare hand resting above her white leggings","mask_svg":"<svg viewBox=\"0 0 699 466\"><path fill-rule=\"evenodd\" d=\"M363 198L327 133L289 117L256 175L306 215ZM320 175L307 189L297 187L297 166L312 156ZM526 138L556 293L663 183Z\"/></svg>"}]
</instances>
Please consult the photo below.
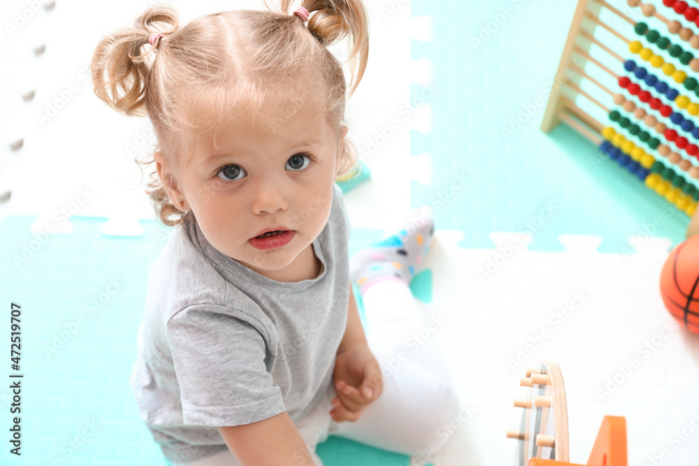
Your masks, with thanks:
<instances>
[{"instance_id":1,"label":"girl's small bare hand resting above her white leggings","mask_svg":"<svg viewBox=\"0 0 699 466\"><path fill-rule=\"evenodd\" d=\"M330 412L337 422L359 419L361 412L383 390L381 367L366 343L357 343L338 352L333 372L338 396Z\"/></svg>"}]
</instances>

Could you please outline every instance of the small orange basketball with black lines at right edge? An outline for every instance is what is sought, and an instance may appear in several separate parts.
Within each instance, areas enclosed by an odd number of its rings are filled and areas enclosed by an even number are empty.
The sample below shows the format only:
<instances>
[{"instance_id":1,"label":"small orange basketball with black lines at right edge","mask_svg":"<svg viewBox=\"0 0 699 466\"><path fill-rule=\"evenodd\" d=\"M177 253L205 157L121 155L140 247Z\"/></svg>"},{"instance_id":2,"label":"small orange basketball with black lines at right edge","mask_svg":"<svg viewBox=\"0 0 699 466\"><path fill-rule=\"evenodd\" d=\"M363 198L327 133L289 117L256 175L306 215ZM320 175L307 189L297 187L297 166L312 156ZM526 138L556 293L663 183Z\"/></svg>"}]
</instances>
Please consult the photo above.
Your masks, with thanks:
<instances>
[{"instance_id":1,"label":"small orange basketball with black lines at right edge","mask_svg":"<svg viewBox=\"0 0 699 466\"><path fill-rule=\"evenodd\" d=\"M670 314L699 334L699 235L672 249L660 274L660 292Z\"/></svg>"}]
</instances>

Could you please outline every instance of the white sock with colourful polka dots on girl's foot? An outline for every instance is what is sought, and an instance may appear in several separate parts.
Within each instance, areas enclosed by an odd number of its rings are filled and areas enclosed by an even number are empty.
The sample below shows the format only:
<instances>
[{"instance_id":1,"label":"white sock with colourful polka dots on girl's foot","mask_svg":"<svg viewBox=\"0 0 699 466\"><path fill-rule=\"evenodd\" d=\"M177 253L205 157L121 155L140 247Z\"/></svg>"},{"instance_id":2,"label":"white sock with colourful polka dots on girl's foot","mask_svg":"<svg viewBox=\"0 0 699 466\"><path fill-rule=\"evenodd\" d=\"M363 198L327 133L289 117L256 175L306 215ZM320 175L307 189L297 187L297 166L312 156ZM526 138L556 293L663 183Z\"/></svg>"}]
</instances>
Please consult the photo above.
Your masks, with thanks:
<instances>
[{"instance_id":1,"label":"white sock with colourful polka dots on girl's foot","mask_svg":"<svg viewBox=\"0 0 699 466\"><path fill-rule=\"evenodd\" d=\"M349 261L349 276L362 295L369 286L385 279L399 279L410 284L412 277L422 269L435 232L431 209L421 207L419 211L425 209L430 211L426 219L418 217L417 223L411 223L373 247L361 249Z\"/></svg>"}]
</instances>

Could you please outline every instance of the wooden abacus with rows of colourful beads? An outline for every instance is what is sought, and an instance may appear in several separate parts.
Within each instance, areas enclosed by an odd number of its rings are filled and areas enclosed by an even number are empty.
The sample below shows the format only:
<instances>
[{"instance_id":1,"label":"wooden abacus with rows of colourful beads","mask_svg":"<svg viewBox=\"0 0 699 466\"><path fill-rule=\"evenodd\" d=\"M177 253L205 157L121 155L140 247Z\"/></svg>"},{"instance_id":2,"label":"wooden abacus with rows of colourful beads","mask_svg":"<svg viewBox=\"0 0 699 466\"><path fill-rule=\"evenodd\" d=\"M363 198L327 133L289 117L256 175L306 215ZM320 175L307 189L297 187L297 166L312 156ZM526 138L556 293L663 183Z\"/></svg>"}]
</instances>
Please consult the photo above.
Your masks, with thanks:
<instances>
[{"instance_id":1,"label":"wooden abacus with rows of colourful beads","mask_svg":"<svg viewBox=\"0 0 699 466\"><path fill-rule=\"evenodd\" d=\"M541 129L565 122L598 145L593 160L617 161L691 217L699 201L699 1L657 3L578 1Z\"/></svg>"}]
</instances>

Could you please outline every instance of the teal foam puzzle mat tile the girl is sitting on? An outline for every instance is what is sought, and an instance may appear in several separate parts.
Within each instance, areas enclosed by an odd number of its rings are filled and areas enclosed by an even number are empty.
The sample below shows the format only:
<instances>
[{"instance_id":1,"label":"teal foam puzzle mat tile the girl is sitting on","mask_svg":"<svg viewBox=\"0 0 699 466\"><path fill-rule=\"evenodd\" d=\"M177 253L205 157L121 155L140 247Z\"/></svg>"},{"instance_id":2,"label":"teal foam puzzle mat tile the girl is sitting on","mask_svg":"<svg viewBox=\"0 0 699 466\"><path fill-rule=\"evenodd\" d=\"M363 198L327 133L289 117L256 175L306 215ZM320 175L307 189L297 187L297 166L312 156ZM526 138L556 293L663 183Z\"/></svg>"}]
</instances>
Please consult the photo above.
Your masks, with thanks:
<instances>
[{"instance_id":1,"label":"teal foam puzzle mat tile the girl is sitting on","mask_svg":"<svg viewBox=\"0 0 699 466\"><path fill-rule=\"evenodd\" d=\"M19 370L10 370L6 360L6 374L24 376L21 456L9 453L6 443L0 464L165 465L140 419L129 376L147 275L166 229L142 221L139 238L108 237L99 233L105 219L72 217L73 232L45 235L29 231L35 220L0 221L0 296L6 315L10 302L21 306ZM353 230L352 250L360 238L372 244L378 235ZM9 331L0 344L9 349ZM5 428L13 403L9 385L0 384ZM318 454L327 466L410 464L408 456L333 436Z\"/></svg>"}]
</instances>

